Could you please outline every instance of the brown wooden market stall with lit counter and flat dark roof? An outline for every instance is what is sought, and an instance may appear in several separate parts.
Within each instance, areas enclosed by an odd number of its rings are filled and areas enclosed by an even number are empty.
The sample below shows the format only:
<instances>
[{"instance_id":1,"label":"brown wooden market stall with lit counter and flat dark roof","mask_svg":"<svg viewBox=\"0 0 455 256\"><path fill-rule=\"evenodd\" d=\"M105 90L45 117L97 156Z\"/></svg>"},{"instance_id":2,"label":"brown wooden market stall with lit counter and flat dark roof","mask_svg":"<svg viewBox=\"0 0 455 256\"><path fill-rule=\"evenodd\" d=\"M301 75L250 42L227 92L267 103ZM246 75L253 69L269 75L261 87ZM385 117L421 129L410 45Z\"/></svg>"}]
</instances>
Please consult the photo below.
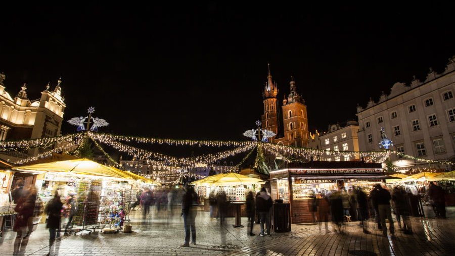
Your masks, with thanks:
<instances>
[{"instance_id":1,"label":"brown wooden market stall with lit counter and flat dark roof","mask_svg":"<svg viewBox=\"0 0 455 256\"><path fill-rule=\"evenodd\" d=\"M361 187L367 194L374 184L389 179L381 164L364 162L289 163L288 168L270 172L272 199L291 204L292 223L313 222L312 206L328 209L327 195L333 190Z\"/></svg>"}]
</instances>

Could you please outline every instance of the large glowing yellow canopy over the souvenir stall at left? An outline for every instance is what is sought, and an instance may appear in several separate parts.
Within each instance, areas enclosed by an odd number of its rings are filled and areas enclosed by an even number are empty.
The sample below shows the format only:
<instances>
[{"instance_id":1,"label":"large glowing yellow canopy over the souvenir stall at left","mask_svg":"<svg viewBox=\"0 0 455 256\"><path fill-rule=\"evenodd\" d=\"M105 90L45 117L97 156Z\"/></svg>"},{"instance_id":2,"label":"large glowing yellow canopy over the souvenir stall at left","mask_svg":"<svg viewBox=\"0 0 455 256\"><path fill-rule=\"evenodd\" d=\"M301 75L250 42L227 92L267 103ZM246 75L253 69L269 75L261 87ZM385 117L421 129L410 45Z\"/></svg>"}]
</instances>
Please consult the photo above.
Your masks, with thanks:
<instances>
[{"instance_id":1,"label":"large glowing yellow canopy over the souvenir stall at left","mask_svg":"<svg viewBox=\"0 0 455 256\"><path fill-rule=\"evenodd\" d=\"M56 172L66 175L74 174L76 176L98 176L120 179L127 179L130 177L122 172L116 172L108 166L86 158L20 166L13 168L13 170L34 173Z\"/></svg>"}]
</instances>

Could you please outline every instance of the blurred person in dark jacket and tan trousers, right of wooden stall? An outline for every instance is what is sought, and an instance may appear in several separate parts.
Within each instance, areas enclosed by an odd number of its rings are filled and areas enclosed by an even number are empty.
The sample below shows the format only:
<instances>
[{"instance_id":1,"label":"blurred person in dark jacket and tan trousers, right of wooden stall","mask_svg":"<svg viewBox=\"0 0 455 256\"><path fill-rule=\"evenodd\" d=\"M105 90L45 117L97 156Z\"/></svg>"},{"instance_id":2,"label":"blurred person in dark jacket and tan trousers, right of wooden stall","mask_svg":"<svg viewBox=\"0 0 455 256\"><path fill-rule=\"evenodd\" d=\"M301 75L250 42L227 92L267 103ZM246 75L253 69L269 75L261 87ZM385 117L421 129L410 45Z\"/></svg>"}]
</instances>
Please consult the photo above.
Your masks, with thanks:
<instances>
[{"instance_id":1,"label":"blurred person in dark jacket and tan trousers, right of wooden stall","mask_svg":"<svg viewBox=\"0 0 455 256\"><path fill-rule=\"evenodd\" d=\"M390 199L392 197L389 190L385 189L385 187L385 183L379 185L378 192L374 194L374 200L378 204L382 234L387 235L387 226L385 222L385 219L387 218L389 220L390 234L395 235L395 226L393 225L392 212L390 209Z\"/></svg>"}]
</instances>

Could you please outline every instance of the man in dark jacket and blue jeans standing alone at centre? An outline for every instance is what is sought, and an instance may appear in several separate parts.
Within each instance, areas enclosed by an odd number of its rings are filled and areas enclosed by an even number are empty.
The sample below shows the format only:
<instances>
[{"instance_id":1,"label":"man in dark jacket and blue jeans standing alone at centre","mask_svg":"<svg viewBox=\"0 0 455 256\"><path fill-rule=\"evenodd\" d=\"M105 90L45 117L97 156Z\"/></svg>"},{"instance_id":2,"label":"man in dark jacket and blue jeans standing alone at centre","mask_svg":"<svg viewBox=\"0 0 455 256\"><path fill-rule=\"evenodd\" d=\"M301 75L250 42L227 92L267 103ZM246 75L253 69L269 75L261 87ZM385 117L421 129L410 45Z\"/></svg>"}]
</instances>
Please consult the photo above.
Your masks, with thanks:
<instances>
[{"instance_id":1,"label":"man in dark jacket and blue jeans standing alone at centre","mask_svg":"<svg viewBox=\"0 0 455 256\"><path fill-rule=\"evenodd\" d=\"M181 200L181 217L184 218L185 225L185 243L181 246L189 247L190 246L190 233L191 233L191 243L196 245L196 215L197 215L197 206L198 194L194 191L194 187L187 187L182 200Z\"/></svg>"}]
</instances>

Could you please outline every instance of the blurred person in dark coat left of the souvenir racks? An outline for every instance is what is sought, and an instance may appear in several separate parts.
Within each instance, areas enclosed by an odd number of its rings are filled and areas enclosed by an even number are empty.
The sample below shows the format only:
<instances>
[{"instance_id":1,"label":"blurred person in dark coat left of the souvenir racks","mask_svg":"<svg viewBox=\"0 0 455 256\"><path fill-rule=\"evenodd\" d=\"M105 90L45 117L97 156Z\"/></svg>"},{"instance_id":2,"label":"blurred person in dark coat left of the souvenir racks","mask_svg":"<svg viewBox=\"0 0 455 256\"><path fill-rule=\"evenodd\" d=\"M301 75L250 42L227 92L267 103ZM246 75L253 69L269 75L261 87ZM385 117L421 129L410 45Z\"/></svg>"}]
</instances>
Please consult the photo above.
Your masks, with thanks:
<instances>
[{"instance_id":1,"label":"blurred person in dark coat left of the souvenir racks","mask_svg":"<svg viewBox=\"0 0 455 256\"><path fill-rule=\"evenodd\" d=\"M56 237L59 237L60 234L58 230L60 229L60 221L62 217L62 209L63 203L60 201L59 193L56 191L54 194L54 198L49 201L48 205L46 206L45 213L48 214L48 224L46 228L49 228L49 253L51 254L52 245L55 242Z\"/></svg>"}]
</instances>

